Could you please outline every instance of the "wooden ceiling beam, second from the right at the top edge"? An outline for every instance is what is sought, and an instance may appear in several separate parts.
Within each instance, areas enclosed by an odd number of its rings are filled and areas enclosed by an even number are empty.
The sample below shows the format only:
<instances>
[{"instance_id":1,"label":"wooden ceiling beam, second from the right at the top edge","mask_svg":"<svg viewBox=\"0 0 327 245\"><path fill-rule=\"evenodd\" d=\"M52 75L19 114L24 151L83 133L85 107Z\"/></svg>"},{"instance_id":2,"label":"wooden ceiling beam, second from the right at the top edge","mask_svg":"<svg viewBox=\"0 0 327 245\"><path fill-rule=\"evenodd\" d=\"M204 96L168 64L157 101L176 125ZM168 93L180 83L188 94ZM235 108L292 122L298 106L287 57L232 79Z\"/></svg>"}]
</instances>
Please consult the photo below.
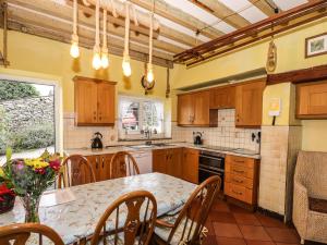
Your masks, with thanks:
<instances>
[{"instance_id":1,"label":"wooden ceiling beam, second from the right at the top edge","mask_svg":"<svg viewBox=\"0 0 327 245\"><path fill-rule=\"evenodd\" d=\"M216 17L219 17L220 20L222 20L223 22L233 26L237 29L251 24L243 16L235 13L225 4L220 3L219 1L213 1L213 0L189 0L189 1L202 8L203 10L207 11L208 13L215 15Z\"/></svg>"}]
</instances>

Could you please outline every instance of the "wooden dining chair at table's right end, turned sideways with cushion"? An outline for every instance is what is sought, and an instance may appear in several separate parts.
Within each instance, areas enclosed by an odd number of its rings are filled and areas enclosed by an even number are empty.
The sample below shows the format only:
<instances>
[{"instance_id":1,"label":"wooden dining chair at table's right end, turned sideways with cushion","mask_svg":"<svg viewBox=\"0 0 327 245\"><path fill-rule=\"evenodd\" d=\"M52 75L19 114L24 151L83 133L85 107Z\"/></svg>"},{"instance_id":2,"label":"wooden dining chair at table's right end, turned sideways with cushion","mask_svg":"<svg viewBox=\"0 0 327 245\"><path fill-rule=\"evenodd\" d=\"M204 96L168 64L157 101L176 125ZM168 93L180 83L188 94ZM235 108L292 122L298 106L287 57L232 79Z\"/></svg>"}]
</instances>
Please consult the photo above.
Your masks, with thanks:
<instances>
[{"instance_id":1,"label":"wooden dining chair at table's right end, turned sideways with cushion","mask_svg":"<svg viewBox=\"0 0 327 245\"><path fill-rule=\"evenodd\" d=\"M197 186L178 215L158 219L154 244L201 244L207 231L205 222L220 186L219 176L207 179Z\"/></svg>"}]
</instances>

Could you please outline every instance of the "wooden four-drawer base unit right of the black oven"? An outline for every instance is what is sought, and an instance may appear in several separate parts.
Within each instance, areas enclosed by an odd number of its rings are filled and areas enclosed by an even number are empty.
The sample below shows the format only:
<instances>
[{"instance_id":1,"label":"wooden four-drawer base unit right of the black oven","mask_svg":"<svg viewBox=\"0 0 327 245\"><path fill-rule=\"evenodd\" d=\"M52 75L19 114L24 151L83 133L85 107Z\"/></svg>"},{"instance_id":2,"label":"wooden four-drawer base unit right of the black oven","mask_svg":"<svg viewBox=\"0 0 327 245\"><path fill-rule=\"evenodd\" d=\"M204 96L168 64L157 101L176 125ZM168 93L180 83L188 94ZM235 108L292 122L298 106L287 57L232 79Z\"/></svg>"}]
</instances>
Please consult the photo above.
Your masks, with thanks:
<instances>
[{"instance_id":1,"label":"wooden four-drawer base unit right of the black oven","mask_svg":"<svg viewBox=\"0 0 327 245\"><path fill-rule=\"evenodd\" d=\"M255 206L257 204L259 161L252 158L226 156L225 195Z\"/></svg>"}]
</instances>

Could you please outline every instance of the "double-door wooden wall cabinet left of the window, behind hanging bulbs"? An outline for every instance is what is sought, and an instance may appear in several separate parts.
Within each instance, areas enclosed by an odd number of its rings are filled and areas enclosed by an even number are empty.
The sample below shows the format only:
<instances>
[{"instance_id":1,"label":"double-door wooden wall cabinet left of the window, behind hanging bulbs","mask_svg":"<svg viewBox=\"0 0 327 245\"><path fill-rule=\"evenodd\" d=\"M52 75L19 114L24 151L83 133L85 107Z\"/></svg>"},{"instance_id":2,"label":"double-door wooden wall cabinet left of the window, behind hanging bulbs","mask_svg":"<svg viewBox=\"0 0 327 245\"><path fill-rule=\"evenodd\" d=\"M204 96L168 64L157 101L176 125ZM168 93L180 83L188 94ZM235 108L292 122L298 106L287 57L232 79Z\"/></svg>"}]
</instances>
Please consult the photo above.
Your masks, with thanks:
<instances>
[{"instance_id":1,"label":"double-door wooden wall cabinet left of the window, behind hanging bulbs","mask_svg":"<svg viewBox=\"0 0 327 245\"><path fill-rule=\"evenodd\" d=\"M113 125L116 83L81 76L74 82L77 126Z\"/></svg>"}]
</instances>

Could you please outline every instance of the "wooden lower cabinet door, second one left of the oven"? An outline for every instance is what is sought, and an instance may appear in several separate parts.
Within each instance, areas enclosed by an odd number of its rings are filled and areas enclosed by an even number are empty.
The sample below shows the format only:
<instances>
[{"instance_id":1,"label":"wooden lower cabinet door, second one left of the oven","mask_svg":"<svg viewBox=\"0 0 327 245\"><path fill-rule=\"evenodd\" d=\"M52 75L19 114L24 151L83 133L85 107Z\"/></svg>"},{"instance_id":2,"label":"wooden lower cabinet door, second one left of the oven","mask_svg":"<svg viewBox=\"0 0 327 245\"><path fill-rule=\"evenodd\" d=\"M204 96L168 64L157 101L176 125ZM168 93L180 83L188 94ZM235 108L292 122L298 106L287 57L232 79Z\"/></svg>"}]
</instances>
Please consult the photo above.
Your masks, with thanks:
<instances>
[{"instance_id":1,"label":"wooden lower cabinet door, second one left of the oven","mask_svg":"<svg viewBox=\"0 0 327 245\"><path fill-rule=\"evenodd\" d=\"M167 173L182 179L182 148L167 150Z\"/></svg>"}]
</instances>

